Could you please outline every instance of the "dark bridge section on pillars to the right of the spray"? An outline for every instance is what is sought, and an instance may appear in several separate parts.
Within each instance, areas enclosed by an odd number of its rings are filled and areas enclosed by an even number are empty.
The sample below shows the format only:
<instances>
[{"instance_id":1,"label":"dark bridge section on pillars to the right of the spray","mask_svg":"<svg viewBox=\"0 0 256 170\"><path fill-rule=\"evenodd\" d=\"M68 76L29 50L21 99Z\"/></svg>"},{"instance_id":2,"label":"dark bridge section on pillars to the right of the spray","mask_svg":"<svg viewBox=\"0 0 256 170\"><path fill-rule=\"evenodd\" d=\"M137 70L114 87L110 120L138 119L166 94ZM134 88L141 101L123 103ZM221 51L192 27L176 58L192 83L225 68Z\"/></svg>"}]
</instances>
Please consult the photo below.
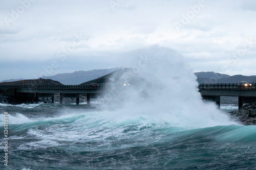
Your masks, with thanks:
<instances>
[{"instance_id":1,"label":"dark bridge section on pillars to the right of the spray","mask_svg":"<svg viewBox=\"0 0 256 170\"><path fill-rule=\"evenodd\" d=\"M241 109L243 103L256 102L256 84L252 87L237 87L237 83L222 84L199 84L199 92L203 99L211 100L220 107L220 96L238 96L238 108Z\"/></svg>"}]
</instances>

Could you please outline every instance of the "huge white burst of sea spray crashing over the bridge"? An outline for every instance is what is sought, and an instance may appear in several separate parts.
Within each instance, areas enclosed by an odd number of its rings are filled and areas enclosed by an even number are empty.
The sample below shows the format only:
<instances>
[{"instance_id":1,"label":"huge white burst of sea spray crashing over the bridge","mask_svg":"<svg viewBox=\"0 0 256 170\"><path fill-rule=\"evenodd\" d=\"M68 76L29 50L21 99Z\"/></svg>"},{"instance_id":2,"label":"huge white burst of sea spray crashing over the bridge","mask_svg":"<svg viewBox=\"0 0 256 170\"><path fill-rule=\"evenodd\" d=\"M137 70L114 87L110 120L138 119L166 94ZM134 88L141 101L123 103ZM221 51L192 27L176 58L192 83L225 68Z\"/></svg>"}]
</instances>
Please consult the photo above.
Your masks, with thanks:
<instances>
[{"instance_id":1,"label":"huge white burst of sea spray crashing over the bridge","mask_svg":"<svg viewBox=\"0 0 256 170\"><path fill-rule=\"evenodd\" d=\"M180 54L170 48L153 46L133 55L146 56L147 62L140 63L143 67L136 71L135 64L129 70L132 74L119 79L133 83L118 88L112 102L118 109L106 114L108 117L143 117L150 122L182 128L236 124L215 104L202 101L193 69Z\"/></svg>"}]
</instances>

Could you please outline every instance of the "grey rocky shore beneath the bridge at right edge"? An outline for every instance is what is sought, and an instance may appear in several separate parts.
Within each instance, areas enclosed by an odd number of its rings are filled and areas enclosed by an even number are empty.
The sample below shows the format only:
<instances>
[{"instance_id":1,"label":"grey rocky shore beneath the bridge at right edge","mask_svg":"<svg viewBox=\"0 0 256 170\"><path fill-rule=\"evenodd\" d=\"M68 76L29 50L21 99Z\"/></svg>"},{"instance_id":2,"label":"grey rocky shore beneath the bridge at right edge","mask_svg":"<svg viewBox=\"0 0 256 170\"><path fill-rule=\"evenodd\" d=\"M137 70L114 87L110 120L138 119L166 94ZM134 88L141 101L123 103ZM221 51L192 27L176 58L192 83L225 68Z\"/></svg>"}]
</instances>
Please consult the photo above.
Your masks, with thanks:
<instances>
[{"instance_id":1,"label":"grey rocky shore beneath the bridge at right edge","mask_svg":"<svg viewBox=\"0 0 256 170\"><path fill-rule=\"evenodd\" d=\"M231 117L244 125L256 125L256 103L242 106L241 110L229 112Z\"/></svg>"}]
</instances>

